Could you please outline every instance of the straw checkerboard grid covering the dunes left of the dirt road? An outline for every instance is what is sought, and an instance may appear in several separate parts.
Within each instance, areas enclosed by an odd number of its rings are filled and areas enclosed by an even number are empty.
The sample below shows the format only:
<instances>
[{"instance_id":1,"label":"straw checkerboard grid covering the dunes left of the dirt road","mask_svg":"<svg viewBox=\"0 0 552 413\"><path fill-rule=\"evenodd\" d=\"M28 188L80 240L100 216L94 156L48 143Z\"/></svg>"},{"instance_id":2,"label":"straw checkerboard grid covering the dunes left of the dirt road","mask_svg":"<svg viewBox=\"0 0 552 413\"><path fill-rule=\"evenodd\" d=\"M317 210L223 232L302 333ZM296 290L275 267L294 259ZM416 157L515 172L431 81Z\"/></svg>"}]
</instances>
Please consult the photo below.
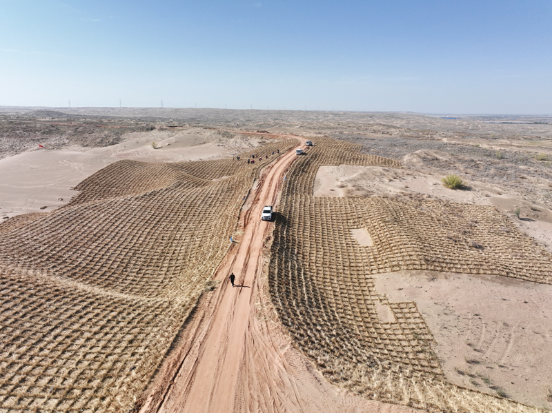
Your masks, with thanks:
<instances>
[{"instance_id":1,"label":"straw checkerboard grid covering the dunes left of the dirt road","mask_svg":"<svg viewBox=\"0 0 552 413\"><path fill-rule=\"evenodd\" d=\"M264 161L120 161L0 225L0 411L128 411L226 254ZM6 225L6 226L5 226Z\"/></svg>"}]
</instances>

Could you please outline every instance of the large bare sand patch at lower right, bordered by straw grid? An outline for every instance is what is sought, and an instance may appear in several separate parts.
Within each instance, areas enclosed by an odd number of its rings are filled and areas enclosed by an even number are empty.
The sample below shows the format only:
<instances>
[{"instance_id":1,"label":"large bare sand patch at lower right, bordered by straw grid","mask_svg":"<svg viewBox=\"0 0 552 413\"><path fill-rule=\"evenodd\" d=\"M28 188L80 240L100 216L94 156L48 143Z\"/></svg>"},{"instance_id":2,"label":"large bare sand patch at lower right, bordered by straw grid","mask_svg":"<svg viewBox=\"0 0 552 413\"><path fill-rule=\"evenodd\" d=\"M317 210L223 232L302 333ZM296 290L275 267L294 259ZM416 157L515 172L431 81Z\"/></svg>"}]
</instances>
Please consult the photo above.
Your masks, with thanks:
<instances>
[{"instance_id":1,"label":"large bare sand patch at lower right, bordered by straw grid","mask_svg":"<svg viewBox=\"0 0 552 413\"><path fill-rule=\"evenodd\" d=\"M415 301L452 383L552 407L552 285L400 271L378 274L375 287L390 302Z\"/></svg>"}]
</instances>

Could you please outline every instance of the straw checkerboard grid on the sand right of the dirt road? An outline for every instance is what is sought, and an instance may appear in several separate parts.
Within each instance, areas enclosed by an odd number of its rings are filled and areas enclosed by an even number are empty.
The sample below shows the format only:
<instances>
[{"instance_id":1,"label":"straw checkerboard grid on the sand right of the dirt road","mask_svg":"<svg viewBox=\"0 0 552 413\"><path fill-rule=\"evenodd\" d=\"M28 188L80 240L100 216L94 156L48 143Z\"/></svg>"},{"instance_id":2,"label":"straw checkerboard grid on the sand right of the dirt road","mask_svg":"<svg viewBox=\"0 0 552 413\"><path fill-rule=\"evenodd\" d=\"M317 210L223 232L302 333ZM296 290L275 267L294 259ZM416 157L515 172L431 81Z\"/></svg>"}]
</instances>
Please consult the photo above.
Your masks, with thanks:
<instances>
[{"instance_id":1,"label":"straw checkerboard grid on the sand right of the dirt road","mask_svg":"<svg viewBox=\"0 0 552 413\"><path fill-rule=\"evenodd\" d=\"M551 283L552 255L494 206L419 193L313 196L324 166L402 171L391 159L359 153L359 145L316 142L286 174L285 219L275 228L269 272L275 308L302 352L331 383L368 399L431 412L537 411L498 398L509 394L491 381L489 394L451 382L443 353L434 350L433 326L415 301L391 301L375 283L379 274L397 270ZM362 228L373 246L351 236Z\"/></svg>"}]
</instances>

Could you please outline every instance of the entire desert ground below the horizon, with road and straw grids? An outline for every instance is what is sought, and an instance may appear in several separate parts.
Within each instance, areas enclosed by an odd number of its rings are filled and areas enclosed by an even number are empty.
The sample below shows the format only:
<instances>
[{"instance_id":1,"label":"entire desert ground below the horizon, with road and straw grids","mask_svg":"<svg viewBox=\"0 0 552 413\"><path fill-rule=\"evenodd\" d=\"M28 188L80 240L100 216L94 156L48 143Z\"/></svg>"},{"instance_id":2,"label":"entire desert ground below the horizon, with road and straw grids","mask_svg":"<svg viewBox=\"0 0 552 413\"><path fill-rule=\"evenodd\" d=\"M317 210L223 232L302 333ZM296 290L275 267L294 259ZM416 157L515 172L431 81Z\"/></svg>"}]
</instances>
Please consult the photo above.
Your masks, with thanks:
<instances>
[{"instance_id":1,"label":"entire desert ground below the horizon, with road and straw grids","mask_svg":"<svg viewBox=\"0 0 552 413\"><path fill-rule=\"evenodd\" d=\"M0 412L552 409L552 117L3 106L0 176Z\"/></svg>"}]
</instances>

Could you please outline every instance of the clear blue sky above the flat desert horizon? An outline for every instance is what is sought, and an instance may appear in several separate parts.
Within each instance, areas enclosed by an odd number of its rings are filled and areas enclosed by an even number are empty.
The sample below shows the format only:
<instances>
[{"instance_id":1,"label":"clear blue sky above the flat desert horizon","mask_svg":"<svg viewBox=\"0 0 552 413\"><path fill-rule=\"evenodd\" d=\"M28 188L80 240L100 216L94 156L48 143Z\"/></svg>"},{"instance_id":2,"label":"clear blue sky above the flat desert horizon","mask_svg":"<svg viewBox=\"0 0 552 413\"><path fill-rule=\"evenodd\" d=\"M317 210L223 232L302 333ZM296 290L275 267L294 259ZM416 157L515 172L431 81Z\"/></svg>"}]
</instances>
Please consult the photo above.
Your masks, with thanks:
<instances>
[{"instance_id":1,"label":"clear blue sky above the flat desert horizon","mask_svg":"<svg viewBox=\"0 0 552 413\"><path fill-rule=\"evenodd\" d=\"M0 0L0 105L552 114L552 0Z\"/></svg>"}]
</instances>

